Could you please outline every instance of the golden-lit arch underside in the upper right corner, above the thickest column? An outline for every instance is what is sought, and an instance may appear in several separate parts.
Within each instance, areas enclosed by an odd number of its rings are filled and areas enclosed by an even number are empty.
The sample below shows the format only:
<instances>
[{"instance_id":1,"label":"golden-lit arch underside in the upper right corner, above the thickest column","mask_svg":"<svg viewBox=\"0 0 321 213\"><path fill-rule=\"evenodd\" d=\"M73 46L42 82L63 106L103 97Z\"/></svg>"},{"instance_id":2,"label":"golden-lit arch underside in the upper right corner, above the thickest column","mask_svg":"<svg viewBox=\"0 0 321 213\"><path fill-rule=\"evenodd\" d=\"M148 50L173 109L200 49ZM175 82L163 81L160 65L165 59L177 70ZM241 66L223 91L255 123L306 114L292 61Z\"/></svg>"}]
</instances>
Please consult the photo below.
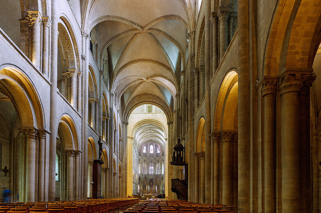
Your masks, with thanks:
<instances>
[{"instance_id":1,"label":"golden-lit arch underside in the upper right corner, above the thickest column","mask_svg":"<svg viewBox=\"0 0 321 213\"><path fill-rule=\"evenodd\" d=\"M314 0L281 2L275 6L265 45L263 75L311 68L320 43L321 4Z\"/></svg>"}]
</instances>

